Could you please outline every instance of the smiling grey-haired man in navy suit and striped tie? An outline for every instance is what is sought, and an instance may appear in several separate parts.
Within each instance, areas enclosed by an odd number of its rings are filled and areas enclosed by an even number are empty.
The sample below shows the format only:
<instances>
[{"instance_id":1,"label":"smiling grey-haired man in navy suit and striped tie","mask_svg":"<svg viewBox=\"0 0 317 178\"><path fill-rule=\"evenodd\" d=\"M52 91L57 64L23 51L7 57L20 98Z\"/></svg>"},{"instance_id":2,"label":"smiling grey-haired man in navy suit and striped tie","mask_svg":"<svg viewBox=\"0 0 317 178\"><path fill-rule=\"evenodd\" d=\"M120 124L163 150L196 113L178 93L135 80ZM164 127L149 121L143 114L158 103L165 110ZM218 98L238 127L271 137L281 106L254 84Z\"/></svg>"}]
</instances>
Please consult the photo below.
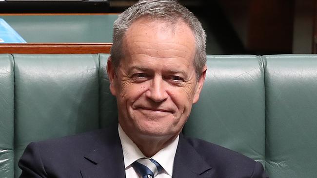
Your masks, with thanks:
<instances>
[{"instance_id":1,"label":"smiling grey-haired man in navy suit and striped tie","mask_svg":"<svg viewBox=\"0 0 317 178\"><path fill-rule=\"evenodd\" d=\"M261 163L182 136L206 73L205 33L173 0L140 0L114 25L107 63L119 125L31 143L22 178L265 178Z\"/></svg>"}]
</instances>

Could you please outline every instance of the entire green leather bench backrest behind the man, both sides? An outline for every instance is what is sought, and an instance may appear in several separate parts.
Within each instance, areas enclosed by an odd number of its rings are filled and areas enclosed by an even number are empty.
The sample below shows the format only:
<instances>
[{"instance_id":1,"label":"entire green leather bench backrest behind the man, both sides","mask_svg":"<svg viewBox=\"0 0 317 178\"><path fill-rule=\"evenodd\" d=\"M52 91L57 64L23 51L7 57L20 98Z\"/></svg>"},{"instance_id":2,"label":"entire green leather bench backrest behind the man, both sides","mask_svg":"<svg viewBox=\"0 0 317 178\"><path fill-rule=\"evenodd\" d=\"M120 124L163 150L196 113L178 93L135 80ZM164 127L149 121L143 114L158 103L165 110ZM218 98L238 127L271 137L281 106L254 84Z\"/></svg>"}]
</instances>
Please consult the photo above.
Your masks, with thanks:
<instances>
[{"instance_id":1,"label":"entire green leather bench backrest behind the man, both sides","mask_svg":"<svg viewBox=\"0 0 317 178\"><path fill-rule=\"evenodd\" d=\"M0 54L0 177L31 141L116 122L108 54ZM265 166L270 178L315 178L317 55L209 55L183 129Z\"/></svg>"}]
</instances>

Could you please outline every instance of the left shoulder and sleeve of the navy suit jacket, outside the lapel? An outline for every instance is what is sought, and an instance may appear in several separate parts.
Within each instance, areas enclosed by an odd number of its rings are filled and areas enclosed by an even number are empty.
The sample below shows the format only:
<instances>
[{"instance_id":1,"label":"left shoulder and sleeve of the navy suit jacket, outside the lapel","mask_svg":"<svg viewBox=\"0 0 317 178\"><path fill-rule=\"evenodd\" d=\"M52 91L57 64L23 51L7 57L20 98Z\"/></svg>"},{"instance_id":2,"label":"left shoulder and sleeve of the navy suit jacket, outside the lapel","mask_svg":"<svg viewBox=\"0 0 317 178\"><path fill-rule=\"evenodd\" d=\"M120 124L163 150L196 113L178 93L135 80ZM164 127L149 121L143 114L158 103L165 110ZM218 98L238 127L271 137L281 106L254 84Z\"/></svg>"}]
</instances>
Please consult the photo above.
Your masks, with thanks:
<instances>
[{"instance_id":1,"label":"left shoulder and sleeve of the navy suit jacket, outside the lapel","mask_svg":"<svg viewBox=\"0 0 317 178\"><path fill-rule=\"evenodd\" d=\"M21 178L29 177L80 177L80 170L90 167L85 158L92 146L100 139L111 138L107 130L96 130L79 135L31 142L19 161Z\"/></svg>"}]
</instances>

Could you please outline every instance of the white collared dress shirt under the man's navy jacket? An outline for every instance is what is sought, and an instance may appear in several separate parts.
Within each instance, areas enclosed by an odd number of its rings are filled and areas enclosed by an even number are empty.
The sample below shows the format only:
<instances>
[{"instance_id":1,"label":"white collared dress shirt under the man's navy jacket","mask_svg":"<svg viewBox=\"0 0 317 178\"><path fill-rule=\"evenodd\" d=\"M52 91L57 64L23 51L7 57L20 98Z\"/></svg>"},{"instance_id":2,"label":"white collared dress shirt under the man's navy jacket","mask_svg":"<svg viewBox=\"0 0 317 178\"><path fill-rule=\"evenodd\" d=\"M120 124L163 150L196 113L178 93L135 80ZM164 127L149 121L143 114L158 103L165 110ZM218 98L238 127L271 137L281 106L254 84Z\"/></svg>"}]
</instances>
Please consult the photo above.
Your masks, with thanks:
<instances>
[{"instance_id":1,"label":"white collared dress shirt under the man's navy jacket","mask_svg":"<svg viewBox=\"0 0 317 178\"><path fill-rule=\"evenodd\" d=\"M125 134L120 125L118 130L123 151L125 176L126 178L141 178L131 164L140 158L146 157L140 151L139 147ZM172 178L178 140L179 136L152 157L152 159L158 161L158 163L163 167L163 171L155 178Z\"/></svg>"}]
</instances>

